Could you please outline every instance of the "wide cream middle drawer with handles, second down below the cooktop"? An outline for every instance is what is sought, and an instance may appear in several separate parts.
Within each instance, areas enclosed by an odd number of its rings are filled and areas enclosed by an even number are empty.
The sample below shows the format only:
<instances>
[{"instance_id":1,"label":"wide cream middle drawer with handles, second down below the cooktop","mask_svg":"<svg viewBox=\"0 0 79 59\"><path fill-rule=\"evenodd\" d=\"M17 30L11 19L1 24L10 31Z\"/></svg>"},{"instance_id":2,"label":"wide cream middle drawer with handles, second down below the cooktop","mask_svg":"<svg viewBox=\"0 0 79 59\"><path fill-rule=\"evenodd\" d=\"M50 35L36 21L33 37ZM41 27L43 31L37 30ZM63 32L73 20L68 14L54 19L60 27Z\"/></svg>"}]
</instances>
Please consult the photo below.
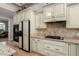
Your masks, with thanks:
<instances>
[{"instance_id":1,"label":"wide cream middle drawer with handles, second down below the cooktop","mask_svg":"<svg viewBox=\"0 0 79 59\"><path fill-rule=\"evenodd\" d=\"M50 45L50 44L45 44L44 48L49 51L55 51L59 53L64 53L68 52L68 46L56 46L56 45Z\"/></svg>"}]
</instances>

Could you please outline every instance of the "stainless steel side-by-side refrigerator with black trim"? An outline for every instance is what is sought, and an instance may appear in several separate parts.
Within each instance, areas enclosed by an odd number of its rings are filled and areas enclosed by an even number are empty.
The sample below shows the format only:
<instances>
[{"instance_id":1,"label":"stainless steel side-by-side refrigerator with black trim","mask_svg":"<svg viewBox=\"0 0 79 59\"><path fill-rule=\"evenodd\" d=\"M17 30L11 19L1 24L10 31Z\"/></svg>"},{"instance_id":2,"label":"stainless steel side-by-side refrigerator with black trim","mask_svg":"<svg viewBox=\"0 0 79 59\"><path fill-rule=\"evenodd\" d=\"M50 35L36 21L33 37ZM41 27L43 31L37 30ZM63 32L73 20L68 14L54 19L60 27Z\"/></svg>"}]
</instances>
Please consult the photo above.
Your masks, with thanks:
<instances>
[{"instance_id":1,"label":"stainless steel side-by-side refrigerator with black trim","mask_svg":"<svg viewBox=\"0 0 79 59\"><path fill-rule=\"evenodd\" d=\"M19 48L30 52L30 20L20 22L19 35Z\"/></svg>"}]
</instances>

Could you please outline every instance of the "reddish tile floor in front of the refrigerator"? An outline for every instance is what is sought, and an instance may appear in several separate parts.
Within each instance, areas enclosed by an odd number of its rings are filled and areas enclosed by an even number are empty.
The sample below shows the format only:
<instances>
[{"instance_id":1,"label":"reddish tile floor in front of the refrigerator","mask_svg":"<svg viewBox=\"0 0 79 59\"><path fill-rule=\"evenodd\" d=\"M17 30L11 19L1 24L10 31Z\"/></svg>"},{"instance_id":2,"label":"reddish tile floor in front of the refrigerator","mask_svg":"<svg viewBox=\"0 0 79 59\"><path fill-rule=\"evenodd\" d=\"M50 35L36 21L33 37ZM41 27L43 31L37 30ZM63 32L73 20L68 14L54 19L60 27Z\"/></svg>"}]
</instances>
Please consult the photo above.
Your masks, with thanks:
<instances>
[{"instance_id":1,"label":"reddish tile floor in front of the refrigerator","mask_svg":"<svg viewBox=\"0 0 79 59\"><path fill-rule=\"evenodd\" d=\"M35 52L26 52L26 51L23 51L22 49L18 48L16 42L14 41L8 41L7 39L3 39L3 42L7 42L7 45L13 49L16 50L16 53L14 54L14 56L41 56L40 54L38 53L35 53ZM2 42L2 39L1 39L1 42Z\"/></svg>"}]
</instances>

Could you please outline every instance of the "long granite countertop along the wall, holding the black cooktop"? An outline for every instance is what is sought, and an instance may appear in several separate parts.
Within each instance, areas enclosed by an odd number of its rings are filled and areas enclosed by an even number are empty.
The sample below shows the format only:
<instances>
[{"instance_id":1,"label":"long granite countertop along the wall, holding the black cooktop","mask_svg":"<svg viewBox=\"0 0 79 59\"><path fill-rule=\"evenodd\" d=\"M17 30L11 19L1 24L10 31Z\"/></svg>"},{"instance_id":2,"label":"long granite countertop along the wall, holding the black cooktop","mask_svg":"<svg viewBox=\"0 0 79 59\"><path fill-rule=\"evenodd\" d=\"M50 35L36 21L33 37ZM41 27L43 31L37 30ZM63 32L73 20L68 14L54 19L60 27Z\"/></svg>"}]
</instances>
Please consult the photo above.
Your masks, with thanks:
<instances>
[{"instance_id":1,"label":"long granite countertop along the wall, holding the black cooktop","mask_svg":"<svg viewBox=\"0 0 79 59\"><path fill-rule=\"evenodd\" d=\"M50 40L50 41L58 41L58 42L79 44L79 39L78 38L64 38L64 40L50 39L50 38L45 38L45 37L40 37L40 36L33 36L31 38L38 38L38 39L43 39L43 40Z\"/></svg>"}]
</instances>

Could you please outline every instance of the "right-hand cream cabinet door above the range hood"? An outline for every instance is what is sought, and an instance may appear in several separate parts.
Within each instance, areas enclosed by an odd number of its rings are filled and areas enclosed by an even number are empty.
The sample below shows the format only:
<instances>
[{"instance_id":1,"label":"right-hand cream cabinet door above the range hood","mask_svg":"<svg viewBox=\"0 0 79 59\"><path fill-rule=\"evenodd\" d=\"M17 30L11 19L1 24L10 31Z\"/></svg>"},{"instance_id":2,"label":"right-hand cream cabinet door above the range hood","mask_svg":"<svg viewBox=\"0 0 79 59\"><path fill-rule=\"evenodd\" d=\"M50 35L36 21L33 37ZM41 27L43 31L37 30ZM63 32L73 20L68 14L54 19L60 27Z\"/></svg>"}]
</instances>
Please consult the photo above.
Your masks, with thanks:
<instances>
[{"instance_id":1,"label":"right-hand cream cabinet door above the range hood","mask_svg":"<svg viewBox=\"0 0 79 59\"><path fill-rule=\"evenodd\" d=\"M54 5L54 16L55 17L62 17L65 16L65 4L64 3L59 3Z\"/></svg>"}]
</instances>

